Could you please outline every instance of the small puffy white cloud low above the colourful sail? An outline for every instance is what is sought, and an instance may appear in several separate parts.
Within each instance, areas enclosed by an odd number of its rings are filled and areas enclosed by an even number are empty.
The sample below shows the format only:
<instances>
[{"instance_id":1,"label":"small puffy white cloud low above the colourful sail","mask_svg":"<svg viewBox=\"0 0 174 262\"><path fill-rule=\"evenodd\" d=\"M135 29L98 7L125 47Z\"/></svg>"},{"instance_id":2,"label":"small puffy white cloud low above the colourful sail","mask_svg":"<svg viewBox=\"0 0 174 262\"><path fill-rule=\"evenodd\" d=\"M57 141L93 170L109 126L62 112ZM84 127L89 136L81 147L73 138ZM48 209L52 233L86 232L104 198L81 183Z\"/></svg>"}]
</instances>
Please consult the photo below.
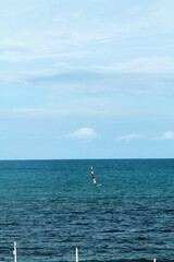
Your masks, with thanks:
<instances>
[{"instance_id":1,"label":"small puffy white cloud low above the colourful sail","mask_svg":"<svg viewBox=\"0 0 174 262\"><path fill-rule=\"evenodd\" d=\"M82 128L73 133L67 134L67 138L79 140L79 141L90 141L96 139L98 134L91 128Z\"/></svg>"}]
</instances>

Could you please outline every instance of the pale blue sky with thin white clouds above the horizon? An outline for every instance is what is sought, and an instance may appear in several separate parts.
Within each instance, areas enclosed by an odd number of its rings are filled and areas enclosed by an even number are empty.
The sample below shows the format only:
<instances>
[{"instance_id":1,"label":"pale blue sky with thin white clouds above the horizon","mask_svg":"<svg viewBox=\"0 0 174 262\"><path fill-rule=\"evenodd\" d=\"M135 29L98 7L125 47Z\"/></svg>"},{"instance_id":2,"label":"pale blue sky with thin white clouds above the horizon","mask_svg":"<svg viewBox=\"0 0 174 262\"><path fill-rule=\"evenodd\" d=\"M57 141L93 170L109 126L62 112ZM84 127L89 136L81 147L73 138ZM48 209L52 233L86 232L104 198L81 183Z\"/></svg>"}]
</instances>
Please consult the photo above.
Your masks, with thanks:
<instances>
[{"instance_id":1,"label":"pale blue sky with thin white clouds above the horizon","mask_svg":"<svg viewBox=\"0 0 174 262\"><path fill-rule=\"evenodd\" d=\"M173 0L0 0L0 159L173 158Z\"/></svg>"}]
</instances>

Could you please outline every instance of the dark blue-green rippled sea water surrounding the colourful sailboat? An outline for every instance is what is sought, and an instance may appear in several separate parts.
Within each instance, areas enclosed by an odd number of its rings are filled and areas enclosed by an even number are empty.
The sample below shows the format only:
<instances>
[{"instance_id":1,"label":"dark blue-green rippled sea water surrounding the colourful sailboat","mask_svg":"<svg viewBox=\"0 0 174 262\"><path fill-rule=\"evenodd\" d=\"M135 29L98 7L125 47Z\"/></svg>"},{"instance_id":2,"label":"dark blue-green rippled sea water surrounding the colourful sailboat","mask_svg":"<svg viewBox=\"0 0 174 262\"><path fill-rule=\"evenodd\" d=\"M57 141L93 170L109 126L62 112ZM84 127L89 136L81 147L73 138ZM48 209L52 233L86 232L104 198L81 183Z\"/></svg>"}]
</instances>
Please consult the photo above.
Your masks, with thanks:
<instances>
[{"instance_id":1,"label":"dark blue-green rippled sea water surrounding the colourful sailboat","mask_svg":"<svg viewBox=\"0 0 174 262\"><path fill-rule=\"evenodd\" d=\"M17 262L174 261L174 159L1 160L0 262L14 241Z\"/></svg>"}]
</instances>

